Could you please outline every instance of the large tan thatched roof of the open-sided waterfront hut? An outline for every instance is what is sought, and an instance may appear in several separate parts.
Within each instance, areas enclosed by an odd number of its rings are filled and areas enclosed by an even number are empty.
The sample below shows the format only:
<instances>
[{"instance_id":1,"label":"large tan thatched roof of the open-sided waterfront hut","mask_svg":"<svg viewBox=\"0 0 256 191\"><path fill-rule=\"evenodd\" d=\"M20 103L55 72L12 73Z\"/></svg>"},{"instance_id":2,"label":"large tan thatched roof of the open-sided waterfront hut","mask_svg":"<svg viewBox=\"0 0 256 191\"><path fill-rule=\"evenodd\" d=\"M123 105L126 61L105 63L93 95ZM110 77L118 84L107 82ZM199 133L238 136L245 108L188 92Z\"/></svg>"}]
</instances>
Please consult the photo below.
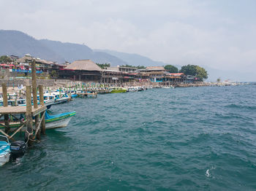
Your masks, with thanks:
<instances>
[{"instance_id":1,"label":"large tan thatched roof of the open-sided waterfront hut","mask_svg":"<svg viewBox=\"0 0 256 191\"><path fill-rule=\"evenodd\" d=\"M69 64L66 69L86 70L86 71L102 71L102 69L91 60L78 60Z\"/></svg>"}]
</instances>

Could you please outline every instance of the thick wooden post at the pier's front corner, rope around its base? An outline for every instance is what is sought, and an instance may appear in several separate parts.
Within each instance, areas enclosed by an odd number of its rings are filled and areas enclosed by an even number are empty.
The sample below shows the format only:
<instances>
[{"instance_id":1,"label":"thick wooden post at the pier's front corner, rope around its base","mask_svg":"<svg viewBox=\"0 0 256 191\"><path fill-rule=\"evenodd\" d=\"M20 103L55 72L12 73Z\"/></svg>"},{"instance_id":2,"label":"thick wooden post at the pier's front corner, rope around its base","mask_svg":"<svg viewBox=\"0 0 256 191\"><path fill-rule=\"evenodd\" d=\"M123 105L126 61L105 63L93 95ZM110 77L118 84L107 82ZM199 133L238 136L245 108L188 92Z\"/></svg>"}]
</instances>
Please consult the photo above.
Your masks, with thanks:
<instances>
[{"instance_id":1,"label":"thick wooden post at the pier's front corner, rope around its base","mask_svg":"<svg viewBox=\"0 0 256 191\"><path fill-rule=\"evenodd\" d=\"M31 139L33 136L33 121L32 121L32 104L31 104L31 86L26 86L26 139Z\"/></svg>"}]
</instances>

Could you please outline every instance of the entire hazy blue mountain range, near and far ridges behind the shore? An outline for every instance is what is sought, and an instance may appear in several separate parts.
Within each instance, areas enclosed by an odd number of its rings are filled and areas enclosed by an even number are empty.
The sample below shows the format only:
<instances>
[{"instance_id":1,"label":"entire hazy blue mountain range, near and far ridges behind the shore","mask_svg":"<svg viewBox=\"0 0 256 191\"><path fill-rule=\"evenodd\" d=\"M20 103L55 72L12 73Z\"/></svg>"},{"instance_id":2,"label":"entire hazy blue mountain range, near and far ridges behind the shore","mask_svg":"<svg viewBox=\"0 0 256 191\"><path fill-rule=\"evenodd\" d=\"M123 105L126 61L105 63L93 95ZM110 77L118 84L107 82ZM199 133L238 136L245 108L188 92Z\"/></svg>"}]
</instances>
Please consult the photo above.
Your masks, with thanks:
<instances>
[{"instance_id":1,"label":"entire hazy blue mountain range, near and far ridges behind the shore","mask_svg":"<svg viewBox=\"0 0 256 191\"><path fill-rule=\"evenodd\" d=\"M163 63L161 61L152 61L138 54L129 54L113 50L92 50L85 44L75 44L69 42L57 42L48 39L34 39L34 37L24 34L20 31L0 30L0 55L18 55L23 57L25 54L36 58L42 58L48 61L75 61L80 59L91 59L95 63L111 63L111 66L132 65L132 66L165 66L175 63ZM187 63L184 63L187 65ZM180 68L181 66L177 66ZM222 71L221 69L211 69L203 66L208 71L208 80L216 81L218 77L222 79L232 79L240 81L250 81L246 78L252 76L252 72L241 73L238 71Z\"/></svg>"}]
</instances>

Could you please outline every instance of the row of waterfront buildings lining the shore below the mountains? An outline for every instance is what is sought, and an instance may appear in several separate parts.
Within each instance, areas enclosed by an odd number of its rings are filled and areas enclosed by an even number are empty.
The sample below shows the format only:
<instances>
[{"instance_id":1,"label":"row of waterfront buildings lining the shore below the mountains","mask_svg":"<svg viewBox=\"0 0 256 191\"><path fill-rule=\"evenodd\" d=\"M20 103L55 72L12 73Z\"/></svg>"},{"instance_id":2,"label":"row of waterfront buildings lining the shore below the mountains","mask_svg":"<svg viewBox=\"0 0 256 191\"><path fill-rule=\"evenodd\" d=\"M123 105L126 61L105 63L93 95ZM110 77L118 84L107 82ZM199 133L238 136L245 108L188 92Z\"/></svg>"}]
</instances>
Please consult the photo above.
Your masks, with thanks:
<instances>
[{"instance_id":1,"label":"row of waterfront buildings lining the shore below the mountains","mask_svg":"<svg viewBox=\"0 0 256 191\"><path fill-rule=\"evenodd\" d=\"M148 66L146 69L137 69L129 66L111 66L101 69L91 60L78 60L72 63L58 64L54 61L45 61L26 54L23 58L12 55L11 63L1 63L0 77L14 79L29 77L31 62L36 62L39 77L54 79L71 79L83 82L101 82L105 84L119 84L126 82L151 82L159 85L193 84L196 77L186 76L183 73L169 73L163 66Z\"/></svg>"}]
</instances>

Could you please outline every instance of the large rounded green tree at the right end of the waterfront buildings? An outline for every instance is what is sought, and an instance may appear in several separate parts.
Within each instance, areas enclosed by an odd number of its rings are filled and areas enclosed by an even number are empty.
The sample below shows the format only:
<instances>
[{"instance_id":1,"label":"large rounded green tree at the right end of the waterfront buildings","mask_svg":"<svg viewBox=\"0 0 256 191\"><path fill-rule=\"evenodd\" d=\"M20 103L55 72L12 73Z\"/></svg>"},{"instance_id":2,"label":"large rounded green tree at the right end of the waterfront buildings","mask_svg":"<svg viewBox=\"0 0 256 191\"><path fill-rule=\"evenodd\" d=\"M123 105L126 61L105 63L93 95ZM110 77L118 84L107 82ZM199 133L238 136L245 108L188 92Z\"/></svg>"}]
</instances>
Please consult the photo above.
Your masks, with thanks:
<instances>
[{"instance_id":1,"label":"large rounded green tree at the right end of the waterfront buildings","mask_svg":"<svg viewBox=\"0 0 256 191\"><path fill-rule=\"evenodd\" d=\"M185 75L195 76L200 81L208 78L207 71L202 67L196 65L182 66L180 72L184 73Z\"/></svg>"}]
</instances>

